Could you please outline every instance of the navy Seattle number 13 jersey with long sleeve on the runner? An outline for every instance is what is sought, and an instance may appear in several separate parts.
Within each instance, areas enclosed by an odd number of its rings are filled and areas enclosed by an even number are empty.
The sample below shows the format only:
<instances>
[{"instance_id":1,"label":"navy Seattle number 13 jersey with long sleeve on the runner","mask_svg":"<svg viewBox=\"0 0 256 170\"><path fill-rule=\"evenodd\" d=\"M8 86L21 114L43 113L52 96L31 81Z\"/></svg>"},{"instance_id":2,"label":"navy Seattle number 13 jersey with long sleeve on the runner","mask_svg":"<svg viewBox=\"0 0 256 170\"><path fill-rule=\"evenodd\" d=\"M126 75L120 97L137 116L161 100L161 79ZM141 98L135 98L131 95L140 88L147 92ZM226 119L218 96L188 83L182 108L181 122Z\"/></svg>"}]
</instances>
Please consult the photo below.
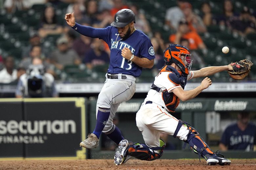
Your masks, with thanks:
<instances>
[{"instance_id":1,"label":"navy Seattle number 13 jersey with long sleeve on the runner","mask_svg":"<svg viewBox=\"0 0 256 170\"><path fill-rule=\"evenodd\" d=\"M108 44L110 48L108 73L110 74L122 73L135 77L140 76L142 68L121 56L121 50L124 47L129 48L132 54L137 57L149 60L155 58L154 48L150 39L140 30L134 31L127 39L122 41L121 37L118 36L117 28L113 26L93 28L75 23L72 28L84 36L99 38Z\"/></svg>"}]
</instances>

